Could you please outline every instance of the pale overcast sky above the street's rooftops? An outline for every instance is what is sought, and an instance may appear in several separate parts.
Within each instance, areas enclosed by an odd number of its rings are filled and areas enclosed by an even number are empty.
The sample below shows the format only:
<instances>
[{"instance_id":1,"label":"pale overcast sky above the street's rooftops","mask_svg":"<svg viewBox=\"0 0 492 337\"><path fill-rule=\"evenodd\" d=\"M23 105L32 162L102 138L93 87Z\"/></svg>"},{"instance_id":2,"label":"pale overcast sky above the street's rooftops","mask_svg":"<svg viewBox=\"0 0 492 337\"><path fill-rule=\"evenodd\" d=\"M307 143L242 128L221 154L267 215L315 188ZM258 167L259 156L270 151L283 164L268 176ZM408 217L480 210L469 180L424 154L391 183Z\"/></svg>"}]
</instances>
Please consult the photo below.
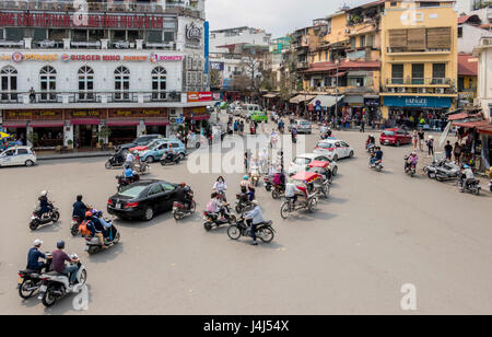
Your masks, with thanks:
<instances>
[{"instance_id":1,"label":"pale overcast sky above the street's rooftops","mask_svg":"<svg viewBox=\"0 0 492 337\"><path fill-rule=\"evenodd\" d=\"M211 30L238 26L263 28L274 37L312 24L313 19L336 12L344 3L355 7L373 0L207 0Z\"/></svg>"}]
</instances>

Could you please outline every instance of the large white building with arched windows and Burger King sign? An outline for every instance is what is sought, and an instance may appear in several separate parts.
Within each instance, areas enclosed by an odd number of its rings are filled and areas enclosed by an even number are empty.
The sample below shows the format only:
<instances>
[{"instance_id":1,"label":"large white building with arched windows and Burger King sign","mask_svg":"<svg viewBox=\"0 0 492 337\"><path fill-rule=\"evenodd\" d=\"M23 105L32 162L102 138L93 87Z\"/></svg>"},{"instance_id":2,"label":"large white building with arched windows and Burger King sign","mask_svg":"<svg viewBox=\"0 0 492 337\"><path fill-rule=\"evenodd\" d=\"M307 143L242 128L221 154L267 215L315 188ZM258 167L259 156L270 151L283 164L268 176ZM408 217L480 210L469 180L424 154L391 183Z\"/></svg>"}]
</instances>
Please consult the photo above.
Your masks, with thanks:
<instances>
[{"instance_id":1,"label":"large white building with arched windows and Burger King sign","mask_svg":"<svg viewBox=\"0 0 492 337\"><path fill-rule=\"evenodd\" d=\"M94 148L103 127L116 144L196 126L212 101L203 2L96 2L80 21L65 1L0 1L1 127Z\"/></svg>"}]
</instances>

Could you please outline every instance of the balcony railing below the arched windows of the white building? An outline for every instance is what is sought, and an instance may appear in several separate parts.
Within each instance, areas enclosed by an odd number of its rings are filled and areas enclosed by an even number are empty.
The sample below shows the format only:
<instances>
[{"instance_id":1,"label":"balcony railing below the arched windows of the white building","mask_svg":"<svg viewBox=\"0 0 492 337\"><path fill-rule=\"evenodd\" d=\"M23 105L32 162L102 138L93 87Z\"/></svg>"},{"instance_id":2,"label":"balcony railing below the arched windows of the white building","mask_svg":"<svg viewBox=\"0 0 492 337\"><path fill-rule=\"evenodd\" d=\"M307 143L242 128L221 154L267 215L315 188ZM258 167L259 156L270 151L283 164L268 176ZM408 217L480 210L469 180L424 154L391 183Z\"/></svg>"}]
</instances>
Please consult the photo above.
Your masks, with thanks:
<instances>
[{"instance_id":1,"label":"balcony railing below the arched windows of the white building","mask_svg":"<svg viewBox=\"0 0 492 337\"><path fill-rule=\"evenodd\" d=\"M78 92L2 92L0 104L72 103L179 103L178 91L78 91Z\"/></svg>"}]
</instances>

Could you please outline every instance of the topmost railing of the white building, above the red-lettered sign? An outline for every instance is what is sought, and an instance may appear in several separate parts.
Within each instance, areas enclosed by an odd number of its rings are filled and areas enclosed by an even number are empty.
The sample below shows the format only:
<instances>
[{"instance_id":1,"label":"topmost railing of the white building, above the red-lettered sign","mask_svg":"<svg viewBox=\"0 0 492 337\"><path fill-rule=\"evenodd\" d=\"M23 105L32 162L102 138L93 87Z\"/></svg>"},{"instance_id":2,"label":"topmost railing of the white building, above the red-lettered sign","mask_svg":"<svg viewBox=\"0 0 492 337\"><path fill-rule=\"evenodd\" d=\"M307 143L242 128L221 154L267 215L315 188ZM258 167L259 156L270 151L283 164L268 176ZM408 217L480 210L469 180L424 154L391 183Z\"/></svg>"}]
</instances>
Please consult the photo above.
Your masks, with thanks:
<instances>
[{"instance_id":1,"label":"topmost railing of the white building, above the red-lettered sign","mask_svg":"<svg viewBox=\"0 0 492 337\"><path fill-rule=\"evenodd\" d=\"M184 10L188 14L202 16L199 8L191 4L192 2L175 1L166 4L166 1L153 1L151 3L141 3L137 1L105 1L89 2L89 11L91 12L137 12L137 13L164 13L166 10ZM73 12L73 1L71 0L51 0L51 1L34 1L34 0L0 0L2 10L25 10L25 11L62 11Z\"/></svg>"}]
</instances>

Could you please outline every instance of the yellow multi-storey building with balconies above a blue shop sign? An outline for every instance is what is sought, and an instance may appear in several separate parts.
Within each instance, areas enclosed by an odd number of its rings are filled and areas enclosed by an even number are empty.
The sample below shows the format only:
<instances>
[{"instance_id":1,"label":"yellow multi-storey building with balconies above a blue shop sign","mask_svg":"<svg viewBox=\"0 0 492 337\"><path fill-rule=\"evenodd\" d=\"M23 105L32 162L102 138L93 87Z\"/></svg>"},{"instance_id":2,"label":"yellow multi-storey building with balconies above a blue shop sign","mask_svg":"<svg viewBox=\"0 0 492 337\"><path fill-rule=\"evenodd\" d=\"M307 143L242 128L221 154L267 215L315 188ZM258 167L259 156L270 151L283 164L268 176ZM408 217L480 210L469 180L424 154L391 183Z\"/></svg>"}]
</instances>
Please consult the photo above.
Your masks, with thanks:
<instances>
[{"instance_id":1,"label":"yellow multi-storey building with balconies above a blue shop sign","mask_svg":"<svg viewBox=\"0 0 492 337\"><path fill-rule=\"evenodd\" d=\"M454 109L458 97L454 1L386 1L382 18L383 118L420 120Z\"/></svg>"}]
</instances>

